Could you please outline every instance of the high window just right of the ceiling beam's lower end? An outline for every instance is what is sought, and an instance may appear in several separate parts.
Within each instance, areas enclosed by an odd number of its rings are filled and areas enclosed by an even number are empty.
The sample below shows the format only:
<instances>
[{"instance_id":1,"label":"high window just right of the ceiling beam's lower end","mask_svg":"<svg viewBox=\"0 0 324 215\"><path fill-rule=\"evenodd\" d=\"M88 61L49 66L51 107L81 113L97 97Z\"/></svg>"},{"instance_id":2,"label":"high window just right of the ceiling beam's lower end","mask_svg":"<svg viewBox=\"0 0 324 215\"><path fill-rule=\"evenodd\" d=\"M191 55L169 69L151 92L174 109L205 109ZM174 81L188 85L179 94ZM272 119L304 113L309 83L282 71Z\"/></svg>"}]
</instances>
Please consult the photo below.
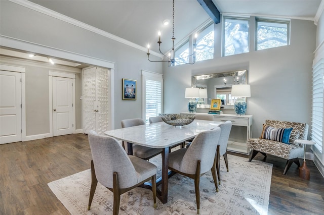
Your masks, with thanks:
<instances>
[{"instance_id":1,"label":"high window just right of the ceiling beam's lower end","mask_svg":"<svg viewBox=\"0 0 324 215\"><path fill-rule=\"evenodd\" d=\"M223 56L249 51L249 20L224 18Z\"/></svg>"}]
</instances>

